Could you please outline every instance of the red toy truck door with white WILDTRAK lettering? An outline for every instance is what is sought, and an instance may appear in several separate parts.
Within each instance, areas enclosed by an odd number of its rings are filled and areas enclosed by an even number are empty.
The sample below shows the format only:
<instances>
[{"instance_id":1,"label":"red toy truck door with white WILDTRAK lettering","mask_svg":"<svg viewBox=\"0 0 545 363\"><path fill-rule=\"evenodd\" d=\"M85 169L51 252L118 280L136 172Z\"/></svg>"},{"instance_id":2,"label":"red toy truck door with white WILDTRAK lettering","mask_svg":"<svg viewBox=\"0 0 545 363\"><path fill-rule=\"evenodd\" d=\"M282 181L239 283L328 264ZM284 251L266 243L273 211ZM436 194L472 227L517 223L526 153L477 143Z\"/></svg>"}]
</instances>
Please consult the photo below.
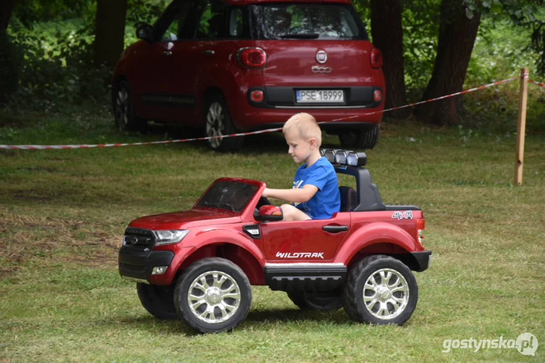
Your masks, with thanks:
<instances>
[{"instance_id":1,"label":"red toy truck door with white WILDTRAK lettering","mask_svg":"<svg viewBox=\"0 0 545 363\"><path fill-rule=\"evenodd\" d=\"M349 228L348 212L339 212L330 219L262 223L265 259L286 262L331 260Z\"/></svg>"}]
</instances>

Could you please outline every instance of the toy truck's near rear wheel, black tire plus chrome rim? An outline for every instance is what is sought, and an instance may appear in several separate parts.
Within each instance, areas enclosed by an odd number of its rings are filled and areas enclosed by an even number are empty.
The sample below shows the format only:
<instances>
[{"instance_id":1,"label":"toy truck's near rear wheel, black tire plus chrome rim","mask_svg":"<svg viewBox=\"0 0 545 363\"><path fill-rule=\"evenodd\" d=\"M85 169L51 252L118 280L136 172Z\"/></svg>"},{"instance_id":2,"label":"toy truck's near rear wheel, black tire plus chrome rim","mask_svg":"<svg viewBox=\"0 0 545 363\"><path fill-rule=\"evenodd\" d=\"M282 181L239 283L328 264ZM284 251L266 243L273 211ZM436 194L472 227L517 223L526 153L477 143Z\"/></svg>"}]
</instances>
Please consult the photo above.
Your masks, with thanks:
<instances>
[{"instance_id":1,"label":"toy truck's near rear wheel, black tire plus chrome rim","mask_svg":"<svg viewBox=\"0 0 545 363\"><path fill-rule=\"evenodd\" d=\"M404 263L375 255L350 269L343 298L344 310L354 321L402 325L416 307L418 286Z\"/></svg>"}]
</instances>

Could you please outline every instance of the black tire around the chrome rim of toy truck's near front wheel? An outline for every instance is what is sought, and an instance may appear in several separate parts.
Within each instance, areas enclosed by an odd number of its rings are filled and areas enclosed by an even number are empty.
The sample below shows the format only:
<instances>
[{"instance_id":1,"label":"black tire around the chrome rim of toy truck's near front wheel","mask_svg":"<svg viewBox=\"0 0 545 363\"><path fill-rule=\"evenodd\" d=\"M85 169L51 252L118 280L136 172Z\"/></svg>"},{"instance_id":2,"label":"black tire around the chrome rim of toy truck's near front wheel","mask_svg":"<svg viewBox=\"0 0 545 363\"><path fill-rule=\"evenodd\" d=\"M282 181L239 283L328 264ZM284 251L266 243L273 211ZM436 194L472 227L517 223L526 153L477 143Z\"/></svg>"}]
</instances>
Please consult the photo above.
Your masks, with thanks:
<instances>
[{"instance_id":1,"label":"black tire around the chrome rim of toy truck's near front wheel","mask_svg":"<svg viewBox=\"0 0 545 363\"><path fill-rule=\"evenodd\" d=\"M207 323L199 320L191 311L187 302L187 296L189 294L189 288L199 275L211 272L220 271L230 275L240 289L240 304L234 315L221 323ZM240 269L233 262L222 259L221 257L207 257L202 260L193 262L184 271L175 284L174 289L174 305L178 316L183 319L187 325L198 333L221 333L222 331L232 331L238 324L244 321L250 306L252 304L252 288L250 281Z\"/></svg>"}]
</instances>

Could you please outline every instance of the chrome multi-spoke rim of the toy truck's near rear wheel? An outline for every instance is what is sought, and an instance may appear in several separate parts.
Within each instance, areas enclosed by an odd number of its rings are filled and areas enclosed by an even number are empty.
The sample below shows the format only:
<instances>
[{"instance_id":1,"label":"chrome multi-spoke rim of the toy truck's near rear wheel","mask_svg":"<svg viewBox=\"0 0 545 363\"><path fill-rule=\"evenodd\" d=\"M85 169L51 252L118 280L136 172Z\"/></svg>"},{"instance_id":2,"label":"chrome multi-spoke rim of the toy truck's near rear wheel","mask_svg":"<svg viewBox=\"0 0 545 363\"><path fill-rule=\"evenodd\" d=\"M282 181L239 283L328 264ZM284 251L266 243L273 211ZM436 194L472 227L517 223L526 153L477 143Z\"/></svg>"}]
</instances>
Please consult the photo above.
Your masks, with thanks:
<instances>
[{"instance_id":1,"label":"chrome multi-spoke rim of the toy truck's near rear wheel","mask_svg":"<svg viewBox=\"0 0 545 363\"><path fill-rule=\"evenodd\" d=\"M409 303L409 284L402 274L391 268L375 271L364 285L364 304L377 319L399 316Z\"/></svg>"}]
</instances>

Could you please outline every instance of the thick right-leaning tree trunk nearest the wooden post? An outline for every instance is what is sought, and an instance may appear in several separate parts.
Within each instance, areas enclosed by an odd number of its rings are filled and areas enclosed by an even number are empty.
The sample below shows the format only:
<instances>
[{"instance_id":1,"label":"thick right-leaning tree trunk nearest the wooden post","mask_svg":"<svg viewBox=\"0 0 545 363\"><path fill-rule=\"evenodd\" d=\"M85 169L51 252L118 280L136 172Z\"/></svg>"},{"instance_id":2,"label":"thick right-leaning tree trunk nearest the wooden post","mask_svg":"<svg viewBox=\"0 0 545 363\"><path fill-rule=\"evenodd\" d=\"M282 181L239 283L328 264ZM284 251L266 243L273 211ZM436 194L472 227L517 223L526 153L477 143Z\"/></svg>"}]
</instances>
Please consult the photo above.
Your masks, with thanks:
<instances>
[{"instance_id":1,"label":"thick right-leaning tree trunk nearest the wooden post","mask_svg":"<svg viewBox=\"0 0 545 363\"><path fill-rule=\"evenodd\" d=\"M422 101L462 90L480 21L479 13L468 19L463 0L443 0L437 56ZM428 123L457 125L460 122L457 109L461 104L462 96L449 97L421 104L415 114Z\"/></svg>"}]
</instances>

